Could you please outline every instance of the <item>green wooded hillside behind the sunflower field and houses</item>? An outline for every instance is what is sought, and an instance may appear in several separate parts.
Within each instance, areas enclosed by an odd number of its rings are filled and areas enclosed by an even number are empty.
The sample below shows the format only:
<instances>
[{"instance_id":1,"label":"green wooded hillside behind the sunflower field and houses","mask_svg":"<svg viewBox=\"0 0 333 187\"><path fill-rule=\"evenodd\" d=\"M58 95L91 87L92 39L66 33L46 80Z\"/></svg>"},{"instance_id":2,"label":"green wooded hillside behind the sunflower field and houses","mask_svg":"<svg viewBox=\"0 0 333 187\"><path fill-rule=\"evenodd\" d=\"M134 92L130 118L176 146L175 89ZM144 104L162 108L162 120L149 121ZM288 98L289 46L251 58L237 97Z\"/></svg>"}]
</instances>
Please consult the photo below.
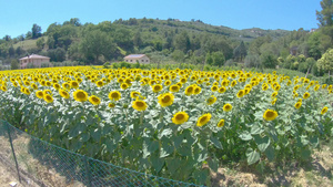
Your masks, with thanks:
<instances>
[{"instance_id":1,"label":"green wooded hillside behind the sunflower field and houses","mask_svg":"<svg viewBox=\"0 0 333 187\"><path fill-rule=\"evenodd\" d=\"M184 62L210 65L275 67L306 72L332 48L333 29L315 32L235 30L210 25L200 20L129 19L82 24L78 18L52 23L46 32L38 24L27 34L0 40L0 58L11 59L38 53L52 62L78 61L103 64L121 61L131 53L148 54L152 62ZM315 70L314 73L317 73Z\"/></svg>"}]
</instances>

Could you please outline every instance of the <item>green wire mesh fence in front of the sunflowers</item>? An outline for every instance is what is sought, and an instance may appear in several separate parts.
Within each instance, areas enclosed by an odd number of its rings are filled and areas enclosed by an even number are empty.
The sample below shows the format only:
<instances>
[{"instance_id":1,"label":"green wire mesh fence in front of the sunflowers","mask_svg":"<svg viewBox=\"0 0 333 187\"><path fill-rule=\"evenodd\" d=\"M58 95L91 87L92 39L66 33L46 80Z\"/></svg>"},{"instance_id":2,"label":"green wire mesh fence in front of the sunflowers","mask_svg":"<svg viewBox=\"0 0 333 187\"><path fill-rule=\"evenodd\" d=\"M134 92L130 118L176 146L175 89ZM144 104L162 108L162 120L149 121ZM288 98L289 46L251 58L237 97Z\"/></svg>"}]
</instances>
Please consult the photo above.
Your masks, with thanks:
<instances>
[{"instance_id":1,"label":"green wire mesh fence in front of the sunflowers","mask_svg":"<svg viewBox=\"0 0 333 187\"><path fill-rule=\"evenodd\" d=\"M186 186L63 149L0 121L0 162L21 183L39 186Z\"/></svg>"}]
</instances>

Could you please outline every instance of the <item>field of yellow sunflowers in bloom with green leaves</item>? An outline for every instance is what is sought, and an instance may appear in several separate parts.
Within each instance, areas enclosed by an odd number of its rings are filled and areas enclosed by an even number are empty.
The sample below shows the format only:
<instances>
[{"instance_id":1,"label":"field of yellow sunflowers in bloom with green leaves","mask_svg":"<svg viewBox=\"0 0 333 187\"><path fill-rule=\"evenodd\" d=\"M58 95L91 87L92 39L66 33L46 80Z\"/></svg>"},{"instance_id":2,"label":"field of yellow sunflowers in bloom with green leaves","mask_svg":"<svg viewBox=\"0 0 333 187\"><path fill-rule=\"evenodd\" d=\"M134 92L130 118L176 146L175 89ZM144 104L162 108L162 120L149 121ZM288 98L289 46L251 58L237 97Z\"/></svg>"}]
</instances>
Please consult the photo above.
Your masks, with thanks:
<instances>
[{"instance_id":1,"label":"field of yellow sunflowers in bloom with green leaves","mask_svg":"<svg viewBox=\"0 0 333 187\"><path fill-rule=\"evenodd\" d=\"M0 117L63 148L196 184L228 162L309 160L333 135L333 87L246 71L0 72Z\"/></svg>"}]
</instances>

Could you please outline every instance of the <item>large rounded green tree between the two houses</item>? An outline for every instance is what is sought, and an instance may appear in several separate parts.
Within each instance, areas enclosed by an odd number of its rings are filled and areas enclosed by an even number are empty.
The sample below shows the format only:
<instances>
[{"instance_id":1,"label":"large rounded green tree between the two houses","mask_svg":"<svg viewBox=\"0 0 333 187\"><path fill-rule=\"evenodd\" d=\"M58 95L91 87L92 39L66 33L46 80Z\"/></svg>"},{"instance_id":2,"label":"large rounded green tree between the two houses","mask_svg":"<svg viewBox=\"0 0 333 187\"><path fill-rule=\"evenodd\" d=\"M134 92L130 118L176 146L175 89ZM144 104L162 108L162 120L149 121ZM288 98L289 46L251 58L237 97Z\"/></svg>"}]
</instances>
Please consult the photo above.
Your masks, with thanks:
<instances>
[{"instance_id":1,"label":"large rounded green tree between the two houses","mask_svg":"<svg viewBox=\"0 0 333 187\"><path fill-rule=\"evenodd\" d=\"M85 33L79 48L85 59L94 63L98 63L100 55L107 58L117 51L117 44L113 42L113 39L100 30Z\"/></svg>"}]
</instances>

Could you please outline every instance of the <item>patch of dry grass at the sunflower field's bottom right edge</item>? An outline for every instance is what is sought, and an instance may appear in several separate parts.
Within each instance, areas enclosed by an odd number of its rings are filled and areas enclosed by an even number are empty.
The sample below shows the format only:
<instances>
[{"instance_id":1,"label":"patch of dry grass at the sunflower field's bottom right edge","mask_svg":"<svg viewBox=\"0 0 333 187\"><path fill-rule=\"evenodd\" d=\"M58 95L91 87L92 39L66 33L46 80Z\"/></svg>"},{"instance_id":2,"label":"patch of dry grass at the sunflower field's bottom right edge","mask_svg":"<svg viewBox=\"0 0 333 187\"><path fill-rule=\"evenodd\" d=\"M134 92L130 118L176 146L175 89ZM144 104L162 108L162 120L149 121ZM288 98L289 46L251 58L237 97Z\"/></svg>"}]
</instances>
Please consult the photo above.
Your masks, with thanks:
<instances>
[{"instance_id":1,"label":"patch of dry grass at the sunflower field's bottom right edge","mask_svg":"<svg viewBox=\"0 0 333 187\"><path fill-rule=\"evenodd\" d=\"M212 173L212 186L313 186L333 187L333 141L315 150L312 162L268 165L263 174L244 167L223 167Z\"/></svg>"}]
</instances>

